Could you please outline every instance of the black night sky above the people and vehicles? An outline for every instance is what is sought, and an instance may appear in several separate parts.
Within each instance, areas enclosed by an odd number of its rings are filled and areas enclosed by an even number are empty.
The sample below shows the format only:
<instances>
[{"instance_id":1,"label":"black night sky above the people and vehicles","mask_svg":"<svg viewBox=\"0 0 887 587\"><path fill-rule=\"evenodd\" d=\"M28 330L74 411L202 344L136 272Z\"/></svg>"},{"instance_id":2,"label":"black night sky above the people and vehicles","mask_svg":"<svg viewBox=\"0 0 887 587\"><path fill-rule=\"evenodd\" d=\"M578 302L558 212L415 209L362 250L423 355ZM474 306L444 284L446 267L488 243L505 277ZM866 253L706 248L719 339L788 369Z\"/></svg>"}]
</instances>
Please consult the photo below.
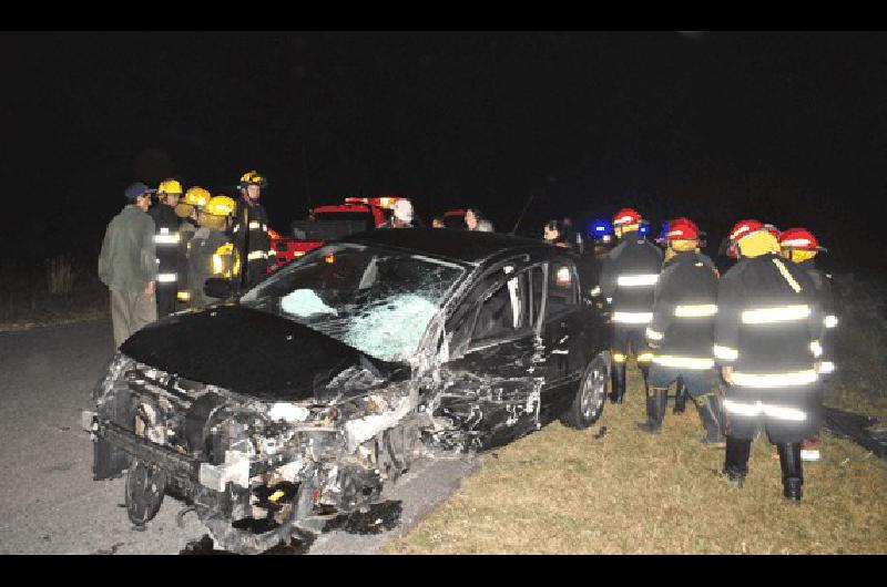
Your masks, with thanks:
<instances>
[{"instance_id":1,"label":"black night sky above the people and vehicles","mask_svg":"<svg viewBox=\"0 0 887 587\"><path fill-rule=\"evenodd\" d=\"M273 224L345 194L509 230L636 206L718 239L806 225L884 266L887 35L676 32L3 33L3 262L94 259L132 181L257 168ZM60 238L63 235L64 238ZM14 251L23 251L14 255ZM92 262L92 261L90 261Z\"/></svg>"}]
</instances>

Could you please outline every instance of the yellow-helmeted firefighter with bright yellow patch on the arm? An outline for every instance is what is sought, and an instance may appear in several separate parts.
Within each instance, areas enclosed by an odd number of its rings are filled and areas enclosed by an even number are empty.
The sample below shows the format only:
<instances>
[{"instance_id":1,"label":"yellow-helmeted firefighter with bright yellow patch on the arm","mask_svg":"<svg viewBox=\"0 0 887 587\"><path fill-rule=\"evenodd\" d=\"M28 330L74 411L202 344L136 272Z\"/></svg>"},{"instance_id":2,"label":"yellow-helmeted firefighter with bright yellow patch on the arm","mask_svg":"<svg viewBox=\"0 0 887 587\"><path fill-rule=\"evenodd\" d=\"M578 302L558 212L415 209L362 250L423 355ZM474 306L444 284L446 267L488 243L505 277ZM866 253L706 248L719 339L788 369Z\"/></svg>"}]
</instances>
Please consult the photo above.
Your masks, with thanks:
<instances>
[{"instance_id":1,"label":"yellow-helmeted firefighter with bright yellow patch on the arm","mask_svg":"<svg viewBox=\"0 0 887 587\"><path fill-rule=\"evenodd\" d=\"M200 228L191 239L187 251L188 294L192 308L202 308L215 301L206 296L203 286L211 277L232 278L236 276L234 247L227 236L232 216L237 207L227 196L210 198L206 206L197 209Z\"/></svg>"}]
</instances>

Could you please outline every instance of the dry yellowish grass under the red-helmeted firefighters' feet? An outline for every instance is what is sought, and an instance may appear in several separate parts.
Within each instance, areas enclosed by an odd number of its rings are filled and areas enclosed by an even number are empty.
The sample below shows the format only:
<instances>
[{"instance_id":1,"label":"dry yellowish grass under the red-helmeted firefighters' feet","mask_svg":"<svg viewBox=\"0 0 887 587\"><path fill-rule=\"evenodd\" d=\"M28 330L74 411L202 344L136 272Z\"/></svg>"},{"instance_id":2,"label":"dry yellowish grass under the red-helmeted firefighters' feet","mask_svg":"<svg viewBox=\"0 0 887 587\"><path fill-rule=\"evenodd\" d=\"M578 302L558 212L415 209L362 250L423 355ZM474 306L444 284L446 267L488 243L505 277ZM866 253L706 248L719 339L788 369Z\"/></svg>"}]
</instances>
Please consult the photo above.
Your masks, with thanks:
<instances>
[{"instance_id":1,"label":"dry yellowish grass under the red-helmeted firefighters' feet","mask_svg":"<svg viewBox=\"0 0 887 587\"><path fill-rule=\"evenodd\" d=\"M651 436L633 369L626 403L598 425L551 424L483 456L482 468L389 553L887 553L887 463L823 434L823 460L805 463L805 496L782 496L778 460L753 445L742 490L717 475L724 451L706 449L699 416L666 414ZM600 426L606 434L594 439Z\"/></svg>"}]
</instances>

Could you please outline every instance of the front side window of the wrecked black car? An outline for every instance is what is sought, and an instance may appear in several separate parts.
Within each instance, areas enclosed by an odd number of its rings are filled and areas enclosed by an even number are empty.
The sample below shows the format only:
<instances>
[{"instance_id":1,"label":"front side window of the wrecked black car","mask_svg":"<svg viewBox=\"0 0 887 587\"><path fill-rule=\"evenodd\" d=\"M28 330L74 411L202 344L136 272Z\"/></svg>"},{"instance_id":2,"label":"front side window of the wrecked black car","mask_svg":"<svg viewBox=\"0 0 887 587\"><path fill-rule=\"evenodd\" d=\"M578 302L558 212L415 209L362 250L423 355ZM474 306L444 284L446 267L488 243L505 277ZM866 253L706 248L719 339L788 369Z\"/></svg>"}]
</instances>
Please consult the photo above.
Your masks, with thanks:
<instances>
[{"instance_id":1,"label":"front side window of the wrecked black car","mask_svg":"<svg viewBox=\"0 0 887 587\"><path fill-rule=\"evenodd\" d=\"M508 266L503 269L506 274L512 270ZM480 303L472 343L508 337L532 327L530 284L530 271L522 271L500 285Z\"/></svg>"}]
</instances>

